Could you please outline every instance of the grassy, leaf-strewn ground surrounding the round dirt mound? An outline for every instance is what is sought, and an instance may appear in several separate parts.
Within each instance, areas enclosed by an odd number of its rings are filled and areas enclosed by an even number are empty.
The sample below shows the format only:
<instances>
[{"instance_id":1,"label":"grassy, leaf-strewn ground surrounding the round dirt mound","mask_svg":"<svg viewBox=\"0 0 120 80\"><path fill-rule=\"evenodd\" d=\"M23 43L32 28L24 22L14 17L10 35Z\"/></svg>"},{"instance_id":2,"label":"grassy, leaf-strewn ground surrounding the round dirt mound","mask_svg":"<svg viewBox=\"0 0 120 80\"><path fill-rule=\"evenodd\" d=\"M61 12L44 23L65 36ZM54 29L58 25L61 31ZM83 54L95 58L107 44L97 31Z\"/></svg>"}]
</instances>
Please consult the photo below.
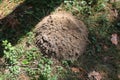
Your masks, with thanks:
<instances>
[{"instance_id":1,"label":"grassy, leaf-strewn ground surrounding the round dirt mound","mask_svg":"<svg viewBox=\"0 0 120 80\"><path fill-rule=\"evenodd\" d=\"M119 3L0 0L0 79L119 80ZM55 10L71 12L88 28L89 45L77 61L46 58L34 45L34 27Z\"/></svg>"}]
</instances>

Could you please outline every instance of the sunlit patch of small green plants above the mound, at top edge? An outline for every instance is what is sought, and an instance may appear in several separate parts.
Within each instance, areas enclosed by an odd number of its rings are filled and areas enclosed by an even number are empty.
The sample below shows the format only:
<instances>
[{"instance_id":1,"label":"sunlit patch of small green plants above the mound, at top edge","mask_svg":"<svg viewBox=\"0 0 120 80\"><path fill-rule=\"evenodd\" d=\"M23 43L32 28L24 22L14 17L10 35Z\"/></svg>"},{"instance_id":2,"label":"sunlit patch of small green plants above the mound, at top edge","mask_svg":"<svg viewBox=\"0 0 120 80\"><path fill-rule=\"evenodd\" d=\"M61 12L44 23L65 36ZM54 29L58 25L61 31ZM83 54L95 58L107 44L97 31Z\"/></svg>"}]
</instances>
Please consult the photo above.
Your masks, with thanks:
<instances>
[{"instance_id":1,"label":"sunlit patch of small green plants above the mound, at top edge","mask_svg":"<svg viewBox=\"0 0 120 80\"><path fill-rule=\"evenodd\" d=\"M82 15L92 15L104 10L108 0L65 0L65 9L71 12L79 12Z\"/></svg>"}]
</instances>

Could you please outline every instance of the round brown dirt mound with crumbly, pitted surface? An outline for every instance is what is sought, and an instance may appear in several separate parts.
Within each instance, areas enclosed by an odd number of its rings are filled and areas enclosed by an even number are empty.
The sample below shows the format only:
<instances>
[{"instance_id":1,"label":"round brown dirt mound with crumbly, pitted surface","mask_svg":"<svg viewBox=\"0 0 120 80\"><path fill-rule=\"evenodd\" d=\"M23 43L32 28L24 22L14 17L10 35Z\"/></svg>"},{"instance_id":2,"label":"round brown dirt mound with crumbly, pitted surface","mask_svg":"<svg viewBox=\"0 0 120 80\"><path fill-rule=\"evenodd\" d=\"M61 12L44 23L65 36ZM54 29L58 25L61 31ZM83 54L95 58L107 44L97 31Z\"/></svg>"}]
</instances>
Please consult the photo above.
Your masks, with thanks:
<instances>
[{"instance_id":1,"label":"round brown dirt mound with crumbly, pitted surface","mask_svg":"<svg viewBox=\"0 0 120 80\"><path fill-rule=\"evenodd\" d=\"M59 60L76 60L87 45L85 25L67 12L45 17L36 26L35 33L40 51Z\"/></svg>"}]
</instances>

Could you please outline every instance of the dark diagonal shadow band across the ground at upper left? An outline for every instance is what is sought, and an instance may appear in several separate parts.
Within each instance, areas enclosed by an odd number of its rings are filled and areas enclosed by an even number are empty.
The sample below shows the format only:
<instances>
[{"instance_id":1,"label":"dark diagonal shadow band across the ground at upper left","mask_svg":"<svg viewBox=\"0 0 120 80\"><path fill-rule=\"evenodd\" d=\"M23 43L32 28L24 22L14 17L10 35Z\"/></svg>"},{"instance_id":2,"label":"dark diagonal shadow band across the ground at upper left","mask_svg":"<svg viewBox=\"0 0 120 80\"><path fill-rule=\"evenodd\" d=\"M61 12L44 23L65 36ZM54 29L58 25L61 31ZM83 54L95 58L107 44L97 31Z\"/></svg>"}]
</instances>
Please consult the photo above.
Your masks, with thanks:
<instances>
[{"instance_id":1,"label":"dark diagonal shadow band across the ground at upper left","mask_svg":"<svg viewBox=\"0 0 120 80\"><path fill-rule=\"evenodd\" d=\"M8 40L13 45L63 0L26 0L15 10L0 20L0 56L3 56L2 41ZM1 3L2 4L2 3Z\"/></svg>"}]
</instances>

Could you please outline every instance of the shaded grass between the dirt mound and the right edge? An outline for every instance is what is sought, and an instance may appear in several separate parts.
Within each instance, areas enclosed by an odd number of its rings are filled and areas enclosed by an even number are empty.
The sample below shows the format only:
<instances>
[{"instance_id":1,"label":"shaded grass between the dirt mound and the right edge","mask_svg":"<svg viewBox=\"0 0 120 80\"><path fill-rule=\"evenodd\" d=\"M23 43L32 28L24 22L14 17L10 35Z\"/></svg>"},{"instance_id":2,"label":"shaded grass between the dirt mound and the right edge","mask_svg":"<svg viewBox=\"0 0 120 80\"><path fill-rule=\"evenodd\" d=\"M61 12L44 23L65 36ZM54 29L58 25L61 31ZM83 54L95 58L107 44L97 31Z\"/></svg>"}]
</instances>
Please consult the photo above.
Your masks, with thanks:
<instances>
[{"instance_id":1,"label":"shaded grass between the dirt mound and the right edge","mask_svg":"<svg viewBox=\"0 0 120 80\"><path fill-rule=\"evenodd\" d=\"M77 2L76 2L77 3ZM70 4L69 4L70 5ZM112 4L109 4L112 5ZM80 6L80 5L79 5ZM81 6L80 6L81 7ZM108 7L108 6L106 6ZM112 19L112 16L109 18L108 14L111 15L111 10L105 8L100 11L95 11L94 7L92 7L93 13L81 13L78 12L79 9L78 5L71 5L68 7L67 4L67 11L72 12L78 19L84 21L86 24L88 31L89 31L89 45L86 49L86 52L79 58L78 61L72 63L68 69L72 67L82 68L85 70L84 77L80 76L81 72L74 73L76 74L75 80L86 80L90 79L88 74L92 71L100 72L101 74L104 73L103 80L119 80L118 77L120 75L120 44L115 46L110 41L111 35L116 33L118 36L120 35L120 28L119 28L119 10L120 8L115 8L118 11L117 18ZM83 14L83 15L81 15ZM113 15L114 13L112 13ZM68 72L69 75L73 75L71 71ZM68 76L66 74L66 76ZM79 76L79 77L78 77ZM68 79L73 79L72 77L68 77ZM65 79L67 80L67 79ZM93 80L93 79L90 79Z\"/></svg>"}]
</instances>

